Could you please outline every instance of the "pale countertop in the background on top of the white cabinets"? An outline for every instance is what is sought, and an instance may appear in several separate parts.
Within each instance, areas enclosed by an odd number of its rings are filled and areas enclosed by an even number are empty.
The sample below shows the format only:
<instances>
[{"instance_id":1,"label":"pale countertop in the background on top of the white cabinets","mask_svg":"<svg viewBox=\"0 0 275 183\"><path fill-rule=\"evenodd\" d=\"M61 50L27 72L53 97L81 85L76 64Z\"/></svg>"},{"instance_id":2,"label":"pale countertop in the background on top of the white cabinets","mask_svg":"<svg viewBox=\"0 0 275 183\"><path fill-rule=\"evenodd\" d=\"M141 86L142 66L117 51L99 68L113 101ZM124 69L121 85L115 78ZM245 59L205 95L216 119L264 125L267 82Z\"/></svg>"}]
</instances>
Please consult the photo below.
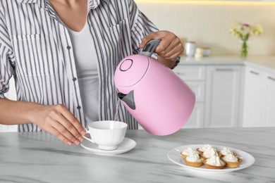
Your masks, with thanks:
<instances>
[{"instance_id":1,"label":"pale countertop in the background on top of the white cabinets","mask_svg":"<svg viewBox=\"0 0 275 183\"><path fill-rule=\"evenodd\" d=\"M250 65L251 67L275 73L275 56L209 56L202 58L181 58L181 65Z\"/></svg>"}]
</instances>

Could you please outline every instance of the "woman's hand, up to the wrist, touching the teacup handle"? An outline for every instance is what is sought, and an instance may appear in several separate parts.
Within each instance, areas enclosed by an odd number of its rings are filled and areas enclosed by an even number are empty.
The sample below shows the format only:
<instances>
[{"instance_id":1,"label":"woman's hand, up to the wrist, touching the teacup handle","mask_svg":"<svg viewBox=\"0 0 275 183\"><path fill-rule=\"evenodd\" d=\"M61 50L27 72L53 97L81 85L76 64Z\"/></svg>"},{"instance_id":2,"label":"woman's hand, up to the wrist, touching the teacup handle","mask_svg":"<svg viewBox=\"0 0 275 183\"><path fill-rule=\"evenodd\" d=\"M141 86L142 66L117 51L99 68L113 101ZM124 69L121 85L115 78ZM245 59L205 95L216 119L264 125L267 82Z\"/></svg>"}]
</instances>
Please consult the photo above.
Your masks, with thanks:
<instances>
[{"instance_id":1,"label":"woman's hand, up to the wrist, touching the teacup handle","mask_svg":"<svg viewBox=\"0 0 275 183\"><path fill-rule=\"evenodd\" d=\"M78 145L83 140L85 129L62 104L54 106L39 105L30 114L30 120L40 129L53 134L64 144Z\"/></svg>"}]
</instances>

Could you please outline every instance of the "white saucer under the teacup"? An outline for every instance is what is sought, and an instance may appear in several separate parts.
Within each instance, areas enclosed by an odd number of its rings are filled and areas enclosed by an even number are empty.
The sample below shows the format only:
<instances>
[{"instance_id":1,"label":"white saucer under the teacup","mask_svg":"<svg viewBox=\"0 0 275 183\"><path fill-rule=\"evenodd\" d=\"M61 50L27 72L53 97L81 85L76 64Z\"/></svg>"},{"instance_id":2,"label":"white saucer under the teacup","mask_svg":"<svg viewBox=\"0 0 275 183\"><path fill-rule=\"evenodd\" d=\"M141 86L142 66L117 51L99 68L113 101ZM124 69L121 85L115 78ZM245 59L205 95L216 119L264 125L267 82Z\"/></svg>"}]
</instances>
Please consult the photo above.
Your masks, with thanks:
<instances>
[{"instance_id":1,"label":"white saucer under the teacup","mask_svg":"<svg viewBox=\"0 0 275 183\"><path fill-rule=\"evenodd\" d=\"M118 154L118 153L126 153L130 150L132 150L137 143L128 138L124 138L121 144L118 145L118 149L112 150L112 151L106 151L102 149L98 149L97 144L94 144L90 141L83 140L80 144L84 149L87 149L88 151L91 151L92 153L97 154L105 154L105 155L111 155L111 154Z\"/></svg>"}]
</instances>

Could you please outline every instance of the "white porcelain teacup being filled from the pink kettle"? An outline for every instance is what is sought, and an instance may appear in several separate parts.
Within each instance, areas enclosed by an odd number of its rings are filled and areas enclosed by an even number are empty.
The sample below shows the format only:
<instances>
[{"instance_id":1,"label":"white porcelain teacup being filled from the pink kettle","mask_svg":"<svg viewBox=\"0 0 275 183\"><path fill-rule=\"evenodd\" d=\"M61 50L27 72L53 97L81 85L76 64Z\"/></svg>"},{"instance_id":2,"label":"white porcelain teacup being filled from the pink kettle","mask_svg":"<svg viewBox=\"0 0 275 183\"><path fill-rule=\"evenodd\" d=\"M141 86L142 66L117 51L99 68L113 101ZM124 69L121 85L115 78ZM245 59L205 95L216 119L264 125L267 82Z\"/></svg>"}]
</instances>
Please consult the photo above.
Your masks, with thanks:
<instances>
[{"instance_id":1,"label":"white porcelain teacup being filled from the pink kettle","mask_svg":"<svg viewBox=\"0 0 275 183\"><path fill-rule=\"evenodd\" d=\"M118 148L126 134L127 124L125 122L114 120L102 120L96 122L90 122L88 125L89 130L86 130L90 134L91 138L83 135L85 139L98 145L102 150L114 150Z\"/></svg>"}]
</instances>

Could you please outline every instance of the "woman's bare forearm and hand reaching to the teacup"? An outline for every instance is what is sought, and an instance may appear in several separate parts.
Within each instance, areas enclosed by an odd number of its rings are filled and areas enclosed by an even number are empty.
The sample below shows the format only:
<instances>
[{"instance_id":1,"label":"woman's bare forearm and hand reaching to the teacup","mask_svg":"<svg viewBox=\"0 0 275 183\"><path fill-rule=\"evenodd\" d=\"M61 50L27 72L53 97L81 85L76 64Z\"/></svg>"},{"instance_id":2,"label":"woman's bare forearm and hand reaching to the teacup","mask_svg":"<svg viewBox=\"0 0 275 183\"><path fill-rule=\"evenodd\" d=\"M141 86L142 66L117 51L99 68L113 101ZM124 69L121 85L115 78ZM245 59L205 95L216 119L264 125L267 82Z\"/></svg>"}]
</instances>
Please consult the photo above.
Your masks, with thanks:
<instances>
[{"instance_id":1,"label":"woman's bare forearm and hand reaching to the teacup","mask_svg":"<svg viewBox=\"0 0 275 183\"><path fill-rule=\"evenodd\" d=\"M82 141L82 134L85 134L80 122L62 104L45 106L33 102L0 99L0 124L27 123L34 123L67 145L78 145Z\"/></svg>"}]
</instances>

